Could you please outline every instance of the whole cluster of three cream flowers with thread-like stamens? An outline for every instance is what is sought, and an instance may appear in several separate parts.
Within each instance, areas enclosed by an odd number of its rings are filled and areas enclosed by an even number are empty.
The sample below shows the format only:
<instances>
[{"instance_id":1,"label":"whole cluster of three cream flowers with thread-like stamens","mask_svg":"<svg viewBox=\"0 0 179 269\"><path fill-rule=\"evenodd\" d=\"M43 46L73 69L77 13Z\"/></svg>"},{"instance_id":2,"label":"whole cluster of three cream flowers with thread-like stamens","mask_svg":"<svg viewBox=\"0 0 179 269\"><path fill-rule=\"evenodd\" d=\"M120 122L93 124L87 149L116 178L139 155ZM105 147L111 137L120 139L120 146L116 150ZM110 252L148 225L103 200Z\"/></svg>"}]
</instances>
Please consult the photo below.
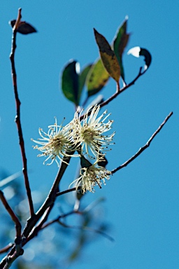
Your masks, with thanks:
<instances>
[{"instance_id":1,"label":"whole cluster of three cream flowers with thread-like stamens","mask_svg":"<svg viewBox=\"0 0 179 269\"><path fill-rule=\"evenodd\" d=\"M112 128L113 120L107 120L110 116L107 111L98 117L99 110L100 106L90 107L83 116L83 111L76 111L73 120L65 126L58 125L55 118L54 125L48 126L48 132L39 128L41 138L31 139L39 145L33 146L41 151L38 157L46 157L43 164L47 162L47 165L51 165L55 161L58 166L61 162L68 165L68 158L80 157L80 177L72 184L76 183L76 188L81 186L82 193L94 192L95 185L101 188L101 184L105 184L105 179L109 179L111 174L98 163L104 160L108 146L113 144L115 132L106 135ZM74 154L75 151L78 153ZM90 163L90 160L94 163Z\"/></svg>"}]
</instances>

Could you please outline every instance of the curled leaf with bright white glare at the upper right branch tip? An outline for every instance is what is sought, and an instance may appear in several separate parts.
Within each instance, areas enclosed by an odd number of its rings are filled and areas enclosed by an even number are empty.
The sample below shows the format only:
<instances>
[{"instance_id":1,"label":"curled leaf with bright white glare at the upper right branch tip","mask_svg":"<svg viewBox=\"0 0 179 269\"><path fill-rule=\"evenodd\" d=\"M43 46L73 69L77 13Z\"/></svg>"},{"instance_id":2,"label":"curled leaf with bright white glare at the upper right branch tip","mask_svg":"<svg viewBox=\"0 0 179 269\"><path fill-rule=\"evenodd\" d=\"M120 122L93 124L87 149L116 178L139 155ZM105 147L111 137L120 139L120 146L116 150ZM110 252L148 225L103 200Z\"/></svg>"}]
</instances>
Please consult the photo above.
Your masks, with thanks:
<instances>
[{"instance_id":1,"label":"curled leaf with bright white glare at the upper right branch tip","mask_svg":"<svg viewBox=\"0 0 179 269\"><path fill-rule=\"evenodd\" d=\"M134 48L131 48L127 54L128 55L131 54L134 57L144 56L144 61L145 61L144 70L148 69L148 67L150 66L150 63L152 61L152 56L151 56L150 52L148 50L146 50L145 48L134 47Z\"/></svg>"}]
</instances>

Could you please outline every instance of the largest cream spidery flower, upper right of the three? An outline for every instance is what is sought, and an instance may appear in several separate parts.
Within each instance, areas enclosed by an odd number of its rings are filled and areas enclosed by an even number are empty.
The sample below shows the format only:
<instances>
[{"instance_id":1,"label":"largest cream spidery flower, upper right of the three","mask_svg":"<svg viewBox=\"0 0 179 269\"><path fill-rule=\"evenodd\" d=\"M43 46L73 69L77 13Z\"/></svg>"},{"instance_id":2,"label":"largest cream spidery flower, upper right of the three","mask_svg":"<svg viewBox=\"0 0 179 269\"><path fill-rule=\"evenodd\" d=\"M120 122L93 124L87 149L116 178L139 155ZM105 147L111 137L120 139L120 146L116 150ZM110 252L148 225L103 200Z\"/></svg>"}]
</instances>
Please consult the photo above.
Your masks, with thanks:
<instances>
[{"instance_id":1,"label":"largest cream spidery flower, upper right of the three","mask_svg":"<svg viewBox=\"0 0 179 269\"><path fill-rule=\"evenodd\" d=\"M110 114L108 114L104 117L107 111L104 111L103 114L97 118L100 109L100 106L97 105L94 106L90 116L88 116L91 109L92 108L87 110L83 120L80 120L82 111L80 114L77 111L71 124L73 125L74 143L78 146L81 145L81 151L83 154L87 153L90 158L93 158L90 155L92 153L96 158L98 154L105 155L104 153L101 153L101 151L108 150L108 145L113 144L110 142L113 140L115 132L111 135L103 135L111 129L113 120L108 120L107 123L104 123L106 118L110 116Z\"/></svg>"}]
</instances>

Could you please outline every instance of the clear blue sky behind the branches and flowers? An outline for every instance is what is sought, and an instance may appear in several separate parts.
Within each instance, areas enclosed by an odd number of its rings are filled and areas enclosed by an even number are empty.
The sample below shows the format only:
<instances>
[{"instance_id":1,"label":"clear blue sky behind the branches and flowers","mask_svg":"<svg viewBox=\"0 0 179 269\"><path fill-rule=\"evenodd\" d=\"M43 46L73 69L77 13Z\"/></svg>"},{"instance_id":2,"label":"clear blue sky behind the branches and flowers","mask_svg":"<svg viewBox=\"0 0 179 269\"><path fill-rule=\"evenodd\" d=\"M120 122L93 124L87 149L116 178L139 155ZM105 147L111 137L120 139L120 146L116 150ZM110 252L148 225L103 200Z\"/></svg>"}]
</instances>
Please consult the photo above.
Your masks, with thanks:
<instances>
[{"instance_id":1,"label":"clear blue sky behind the branches and flowers","mask_svg":"<svg viewBox=\"0 0 179 269\"><path fill-rule=\"evenodd\" d=\"M47 192L57 166L42 165L30 139L38 138L38 127L45 130L54 123L54 116L59 121L65 116L66 123L73 118L74 107L60 90L60 78L70 59L78 60L84 67L99 57L93 27L110 43L129 15L131 38L127 50L141 46L152 54L146 74L107 107L116 132L115 146L108 153L108 169L113 170L136 153L173 111L149 149L114 174L101 190L88 194L89 201L106 198L103 214L110 223L115 243L99 238L85 249L72 268L178 268L178 1L6 0L1 4L0 165L1 170L10 174L22 169L8 59L8 20L17 17L20 7L22 20L38 30L29 36L18 34L15 55L32 191ZM127 55L127 50L124 70L130 82L138 74L143 59ZM115 83L110 80L101 94L106 99L114 92ZM76 163L66 173L62 189L69 186Z\"/></svg>"}]
</instances>

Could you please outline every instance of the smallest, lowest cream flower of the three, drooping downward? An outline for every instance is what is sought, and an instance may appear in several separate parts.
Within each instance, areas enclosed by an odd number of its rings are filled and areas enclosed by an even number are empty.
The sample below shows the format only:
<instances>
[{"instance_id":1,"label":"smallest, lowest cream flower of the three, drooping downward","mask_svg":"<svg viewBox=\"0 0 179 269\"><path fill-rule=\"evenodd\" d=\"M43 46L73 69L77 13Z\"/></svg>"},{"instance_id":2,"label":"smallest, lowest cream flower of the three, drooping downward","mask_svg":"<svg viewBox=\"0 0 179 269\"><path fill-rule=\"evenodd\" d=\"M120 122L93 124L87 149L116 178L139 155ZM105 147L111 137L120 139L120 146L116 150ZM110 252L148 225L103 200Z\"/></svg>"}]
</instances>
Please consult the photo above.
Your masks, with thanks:
<instances>
[{"instance_id":1,"label":"smallest, lowest cream flower of the three, drooping downward","mask_svg":"<svg viewBox=\"0 0 179 269\"><path fill-rule=\"evenodd\" d=\"M76 190L81 186L81 192L90 191L94 193L94 186L98 185L101 188L102 183L106 185L105 179L110 179L111 172L105 167L97 165L101 158L97 159L93 165L80 169L80 177L71 184L76 183ZM71 186L70 184L70 186Z\"/></svg>"}]
</instances>

